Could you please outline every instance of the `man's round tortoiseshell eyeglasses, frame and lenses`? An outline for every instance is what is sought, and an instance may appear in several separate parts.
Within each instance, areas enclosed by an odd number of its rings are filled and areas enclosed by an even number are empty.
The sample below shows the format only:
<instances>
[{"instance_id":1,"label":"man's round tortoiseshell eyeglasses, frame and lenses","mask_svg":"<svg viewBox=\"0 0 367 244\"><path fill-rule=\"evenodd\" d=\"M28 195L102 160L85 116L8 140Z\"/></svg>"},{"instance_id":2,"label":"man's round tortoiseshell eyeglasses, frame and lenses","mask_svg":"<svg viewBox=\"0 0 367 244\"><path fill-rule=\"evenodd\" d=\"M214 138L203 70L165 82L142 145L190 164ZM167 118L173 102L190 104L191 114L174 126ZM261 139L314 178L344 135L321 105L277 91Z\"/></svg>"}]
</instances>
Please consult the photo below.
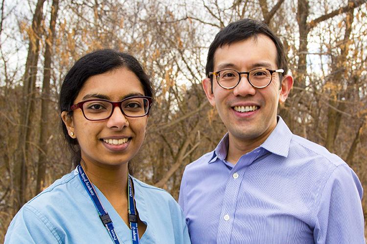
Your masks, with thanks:
<instances>
[{"instance_id":1,"label":"man's round tortoiseshell eyeglasses, frame and lenses","mask_svg":"<svg viewBox=\"0 0 367 244\"><path fill-rule=\"evenodd\" d=\"M238 72L233 69L223 69L217 72L209 72L209 77L216 76L218 84L224 89L233 89L241 81L241 75L246 74L247 80L253 87L267 87L273 80L273 73L284 74L283 69L271 70L266 68L252 69L249 72Z\"/></svg>"}]
</instances>

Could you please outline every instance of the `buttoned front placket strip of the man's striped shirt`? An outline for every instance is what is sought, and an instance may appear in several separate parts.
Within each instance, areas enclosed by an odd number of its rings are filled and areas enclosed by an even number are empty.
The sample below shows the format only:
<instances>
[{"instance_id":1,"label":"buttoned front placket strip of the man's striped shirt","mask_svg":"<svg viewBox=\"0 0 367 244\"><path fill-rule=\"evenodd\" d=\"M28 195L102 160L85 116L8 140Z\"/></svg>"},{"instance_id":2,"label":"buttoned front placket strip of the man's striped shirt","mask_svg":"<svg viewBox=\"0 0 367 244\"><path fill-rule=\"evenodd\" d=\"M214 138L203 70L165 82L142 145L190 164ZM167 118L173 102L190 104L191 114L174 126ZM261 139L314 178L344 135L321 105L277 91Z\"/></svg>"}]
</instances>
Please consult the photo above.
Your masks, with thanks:
<instances>
[{"instance_id":1,"label":"buttoned front placket strip of the man's striped shirt","mask_svg":"<svg viewBox=\"0 0 367 244\"><path fill-rule=\"evenodd\" d=\"M243 155L228 175L222 211L219 217L217 244L230 243L240 186L244 179L246 169L256 158L257 153L258 150Z\"/></svg>"}]
</instances>

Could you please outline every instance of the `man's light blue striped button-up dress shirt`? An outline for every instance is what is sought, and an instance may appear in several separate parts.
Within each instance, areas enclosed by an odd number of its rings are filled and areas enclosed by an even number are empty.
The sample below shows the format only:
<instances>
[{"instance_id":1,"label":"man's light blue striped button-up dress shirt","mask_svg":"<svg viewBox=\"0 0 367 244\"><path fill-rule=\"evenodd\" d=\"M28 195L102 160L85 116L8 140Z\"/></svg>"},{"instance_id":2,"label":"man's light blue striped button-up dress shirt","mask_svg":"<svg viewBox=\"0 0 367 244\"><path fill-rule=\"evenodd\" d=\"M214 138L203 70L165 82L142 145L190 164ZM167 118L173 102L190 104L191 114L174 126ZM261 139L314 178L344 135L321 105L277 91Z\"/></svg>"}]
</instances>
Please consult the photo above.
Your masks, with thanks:
<instances>
[{"instance_id":1,"label":"man's light blue striped button-up dress shirt","mask_svg":"<svg viewBox=\"0 0 367 244\"><path fill-rule=\"evenodd\" d=\"M193 244L364 244L363 189L324 147L275 130L235 165L228 134L186 166L179 203Z\"/></svg>"}]
</instances>

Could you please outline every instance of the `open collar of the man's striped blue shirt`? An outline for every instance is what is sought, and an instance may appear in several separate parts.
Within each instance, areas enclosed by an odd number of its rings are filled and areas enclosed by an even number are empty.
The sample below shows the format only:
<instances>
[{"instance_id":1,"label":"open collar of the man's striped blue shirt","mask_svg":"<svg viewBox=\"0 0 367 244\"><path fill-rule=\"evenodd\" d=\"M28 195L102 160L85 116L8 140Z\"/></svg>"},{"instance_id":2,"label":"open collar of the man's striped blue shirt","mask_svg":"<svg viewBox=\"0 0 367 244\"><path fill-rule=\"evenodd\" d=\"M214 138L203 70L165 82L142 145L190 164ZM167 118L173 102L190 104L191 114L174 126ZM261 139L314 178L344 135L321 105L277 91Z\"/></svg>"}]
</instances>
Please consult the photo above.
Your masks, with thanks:
<instances>
[{"instance_id":1,"label":"open collar of the man's striped blue shirt","mask_svg":"<svg viewBox=\"0 0 367 244\"><path fill-rule=\"evenodd\" d=\"M274 130L265 140L265 142L260 145L260 147L276 155L287 157L292 135L293 134L291 130L288 128L283 119L280 116L277 116L277 123ZM227 157L228 145L229 136L227 132L222 140L218 143L217 147L214 149L208 163L214 163L217 159L224 161Z\"/></svg>"}]
</instances>

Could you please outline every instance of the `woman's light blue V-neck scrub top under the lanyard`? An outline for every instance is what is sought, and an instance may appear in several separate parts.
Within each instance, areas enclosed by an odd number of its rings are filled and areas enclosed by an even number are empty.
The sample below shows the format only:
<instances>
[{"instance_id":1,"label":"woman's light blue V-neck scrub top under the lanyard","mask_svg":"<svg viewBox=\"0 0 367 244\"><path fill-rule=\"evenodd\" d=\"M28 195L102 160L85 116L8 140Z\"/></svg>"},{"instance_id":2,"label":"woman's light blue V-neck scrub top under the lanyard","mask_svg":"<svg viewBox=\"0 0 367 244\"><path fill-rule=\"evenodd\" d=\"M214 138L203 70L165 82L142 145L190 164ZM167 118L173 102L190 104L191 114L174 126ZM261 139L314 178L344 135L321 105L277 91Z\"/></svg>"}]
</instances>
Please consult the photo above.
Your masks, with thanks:
<instances>
[{"instance_id":1,"label":"woman's light blue V-neck scrub top under the lanyard","mask_svg":"<svg viewBox=\"0 0 367 244\"><path fill-rule=\"evenodd\" d=\"M139 218L147 225L141 244L190 244L183 212L166 191L133 178ZM95 186L94 186L95 187ZM130 228L102 192L98 197L114 223L118 240L131 244ZM113 243L80 182L78 171L55 181L15 215L5 244Z\"/></svg>"}]
</instances>

